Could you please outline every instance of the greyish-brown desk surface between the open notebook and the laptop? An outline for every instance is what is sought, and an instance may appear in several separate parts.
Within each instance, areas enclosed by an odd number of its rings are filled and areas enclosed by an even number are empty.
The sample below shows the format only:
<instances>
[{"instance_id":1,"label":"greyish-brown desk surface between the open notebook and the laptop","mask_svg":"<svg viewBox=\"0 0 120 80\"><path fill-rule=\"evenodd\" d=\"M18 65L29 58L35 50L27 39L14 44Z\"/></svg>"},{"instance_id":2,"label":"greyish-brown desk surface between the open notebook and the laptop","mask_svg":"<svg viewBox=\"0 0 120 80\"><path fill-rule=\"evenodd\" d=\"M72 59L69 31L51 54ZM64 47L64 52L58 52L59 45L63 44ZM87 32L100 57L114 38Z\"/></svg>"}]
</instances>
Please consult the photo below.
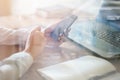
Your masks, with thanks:
<instances>
[{"instance_id":1,"label":"greyish-brown desk surface between the open notebook and the laptop","mask_svg":"<svg viewBox=\"0 0 120 80\"><path fill-rule=\"evenodd\" d=\"M71 47L69 47L71 46ZM38 74L37 70L43 67L61 63L67 60L72 60L81 56L92 55L91 52L84 49L82 46L76 46L74 43L66 42L64 46L51 50L50 48L45 48L43 53L41 53L36 61L33 63L32 67L28 72L21 78L21 80L44 80ZM116 69L120 71L120 59L110 60Z\"/></svg>"}]
</instances>

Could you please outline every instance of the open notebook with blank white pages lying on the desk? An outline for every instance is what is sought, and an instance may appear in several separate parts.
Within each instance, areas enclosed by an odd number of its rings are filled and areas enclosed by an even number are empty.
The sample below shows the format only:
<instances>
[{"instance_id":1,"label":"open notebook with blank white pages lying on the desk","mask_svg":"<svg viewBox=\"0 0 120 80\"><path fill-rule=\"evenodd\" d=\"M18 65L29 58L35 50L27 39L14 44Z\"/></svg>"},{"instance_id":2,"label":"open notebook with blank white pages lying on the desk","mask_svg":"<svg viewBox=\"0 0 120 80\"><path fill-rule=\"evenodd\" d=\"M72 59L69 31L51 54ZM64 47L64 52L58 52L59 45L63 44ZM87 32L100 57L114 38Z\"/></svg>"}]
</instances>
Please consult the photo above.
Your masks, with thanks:
<instances>
[{"instance_id":1,"label":"open notebook with blank white pages lying on the desk","mask_svg":"<svg viewBox=\"0 0 120 80\"><path fill-rule=\"evenodd\" d=\"M120 73L107 60L83 56L38 70L44 80L120 80Z\"/></svg>"}]
</instances>

